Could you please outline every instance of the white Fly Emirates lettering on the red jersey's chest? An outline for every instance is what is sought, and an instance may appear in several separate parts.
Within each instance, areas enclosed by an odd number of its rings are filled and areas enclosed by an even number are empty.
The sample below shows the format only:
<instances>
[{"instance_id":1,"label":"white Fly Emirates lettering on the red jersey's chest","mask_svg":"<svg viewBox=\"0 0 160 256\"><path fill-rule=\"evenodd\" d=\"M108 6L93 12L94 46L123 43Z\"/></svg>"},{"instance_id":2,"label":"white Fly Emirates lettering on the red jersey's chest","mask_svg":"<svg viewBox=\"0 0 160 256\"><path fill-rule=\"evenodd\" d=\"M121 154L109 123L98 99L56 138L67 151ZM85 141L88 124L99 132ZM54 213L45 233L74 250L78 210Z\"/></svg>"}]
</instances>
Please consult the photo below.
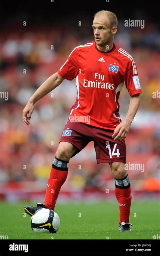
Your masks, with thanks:
<instances>
[{"instance_id":1,"label":"white Fly Emirates lettering on the red jersey's chest","mask_svg":"<svg viewBox=\"0 0 160 256\"><path fill-rule=\"evenodd\" d=\"M101 89L110 89L113 90L114 89L114 84L108 83L108 82L103 82L104 81L105 76L95 73L95 79L96 81L88 81L87 79L83 80L83 86L84 87L94 87L94 88L101 88ZM99 82L98 80L100 80L101 82Z\"/></svg>"}]
</instances>

